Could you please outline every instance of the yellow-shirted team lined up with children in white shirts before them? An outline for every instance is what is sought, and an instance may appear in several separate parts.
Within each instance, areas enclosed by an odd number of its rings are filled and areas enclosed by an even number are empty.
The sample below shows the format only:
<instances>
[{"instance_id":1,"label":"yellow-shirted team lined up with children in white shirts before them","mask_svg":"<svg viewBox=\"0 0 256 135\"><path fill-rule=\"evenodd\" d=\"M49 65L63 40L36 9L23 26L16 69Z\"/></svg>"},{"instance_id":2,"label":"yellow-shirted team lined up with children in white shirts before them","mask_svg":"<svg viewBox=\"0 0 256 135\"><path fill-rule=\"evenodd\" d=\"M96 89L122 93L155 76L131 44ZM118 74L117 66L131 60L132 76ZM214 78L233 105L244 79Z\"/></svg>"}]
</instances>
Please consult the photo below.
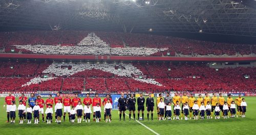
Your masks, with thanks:
<instances>
[{"instance_id":1,"label":"yellow-shirted team lined up with children in white shirts before them","mask_svg":"<svg viewBox=\"0 0 256 135\"><path fill-rule=\"evenodd\" d=\"M193 94L191 94L190 97L188 97L186 93L183 93L183 96L180 97L176 92L175 96L173 97L175 114L173 119L179 120L180 110L181 120L183 119L184 116L185 120L191 119L192 115L194 115L193 119L198 119L199 114L201 116L201 119L204 119L205 115L207 115L207 119L212 119L213 114L215 114L216 116L215 119L220 119L220 116L222 116L223 118L234 118L235 114L237 114L237 117L239 116L239 114L240 117L245 117L247 104L245 102L245 99L241 97L241 94L239 94L239 97L235 100L233 100L230 94L228 95L226 100L223 97L222 93L220 93L219 95L220 96L217 97L216 93L214 93L213 96L210 98L206 93L205 97L202 98L202 95L199 94L199 97L196 99L193 96ZM168 96L169 94L167 94L167 97ZM166 115L171 115L171 102L169 102L169 100L166 100L165 98L162 97L162 94L159 94L159 97L157 98L157 113L159 115L159 120L165 120ZM164 102L162 103L161 100L163 99ZM165 118L163 118L163 114L165 114ZM168 117L168 119L171 120L172 118Z\"/></svg>"}]
</instances>

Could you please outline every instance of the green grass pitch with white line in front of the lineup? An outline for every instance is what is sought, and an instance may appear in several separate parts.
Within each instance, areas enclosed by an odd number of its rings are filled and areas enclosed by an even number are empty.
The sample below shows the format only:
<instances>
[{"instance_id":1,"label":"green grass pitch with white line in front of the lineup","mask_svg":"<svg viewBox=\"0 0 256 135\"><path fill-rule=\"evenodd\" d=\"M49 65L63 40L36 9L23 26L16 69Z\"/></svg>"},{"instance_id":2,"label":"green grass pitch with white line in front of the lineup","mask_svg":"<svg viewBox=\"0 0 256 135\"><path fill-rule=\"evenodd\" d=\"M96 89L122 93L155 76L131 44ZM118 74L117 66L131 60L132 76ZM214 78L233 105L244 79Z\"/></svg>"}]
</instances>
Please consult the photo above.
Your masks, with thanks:
<instances>
[{"instance_id":1,"label":"green grass pitch with white line in front of the lineup","mask_svg":"<svg viewBox=\"0 0 256 135\"><path fill-rule=\"evenodd\" d=\"M256 97L245 97L245 99L248 105L246 118L159 121L157 120L155 109L153 121L146 120L146 112L144 112L145 120L140 122L158 134L255 134ZM125 116L125 122L119 122L117 110L112 112L112 123L105 123L103 121L99 123L93 122L91 115L90 123L82 121L79 124L71 124L67 121L68 117L66 117L66 122L61 122L61 124L55 122L47 124L41 122L40 115L38 125L34 125L33 122L32 124L18 124L17 113L15 124L5 123L7 118L6 108L3 107L4 98L0 98L0 102L0 134L155 134L136 121L128 121L128 116ZM129 114L129 111L126 111L126 114ZM103 107L101 117L104 117Z\"/></svg>"}]
</instances>

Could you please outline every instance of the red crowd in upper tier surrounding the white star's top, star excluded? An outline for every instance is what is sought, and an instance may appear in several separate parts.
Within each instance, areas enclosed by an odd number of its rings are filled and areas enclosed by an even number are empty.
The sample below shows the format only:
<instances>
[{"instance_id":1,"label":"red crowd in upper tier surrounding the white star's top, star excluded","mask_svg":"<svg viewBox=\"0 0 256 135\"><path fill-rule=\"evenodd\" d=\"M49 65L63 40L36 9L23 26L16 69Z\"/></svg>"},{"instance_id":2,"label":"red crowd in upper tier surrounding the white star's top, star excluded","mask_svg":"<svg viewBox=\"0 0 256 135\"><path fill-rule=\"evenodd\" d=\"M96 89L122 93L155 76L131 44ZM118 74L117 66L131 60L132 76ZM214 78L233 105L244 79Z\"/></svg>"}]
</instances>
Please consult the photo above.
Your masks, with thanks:
<instances>
[{"instance_id":1,"label":"red crowd in upper tier surrounding the white star's top, star excluded","mask_svg":"<svg viewBox=\"0 0 256 135\"><path fill-rule=\"evenodd\" d=\"M10 53L32 53L29 50L17 49L12 45L42 44L42 45L62 45L75 46L90 31L18 31L1 32L0 48L5 48L5 52ZM176 37L166 37L148 34L133 34L119 32L94 32L101 40L110 47L154 47L168 48L164 51L154 53L152 56L237 56L251 55L256 53L256 45L248 44L228 44L209 41L198 41ZM169 55L167 55L167 52Z\"/></svg>"}]
</instances>

